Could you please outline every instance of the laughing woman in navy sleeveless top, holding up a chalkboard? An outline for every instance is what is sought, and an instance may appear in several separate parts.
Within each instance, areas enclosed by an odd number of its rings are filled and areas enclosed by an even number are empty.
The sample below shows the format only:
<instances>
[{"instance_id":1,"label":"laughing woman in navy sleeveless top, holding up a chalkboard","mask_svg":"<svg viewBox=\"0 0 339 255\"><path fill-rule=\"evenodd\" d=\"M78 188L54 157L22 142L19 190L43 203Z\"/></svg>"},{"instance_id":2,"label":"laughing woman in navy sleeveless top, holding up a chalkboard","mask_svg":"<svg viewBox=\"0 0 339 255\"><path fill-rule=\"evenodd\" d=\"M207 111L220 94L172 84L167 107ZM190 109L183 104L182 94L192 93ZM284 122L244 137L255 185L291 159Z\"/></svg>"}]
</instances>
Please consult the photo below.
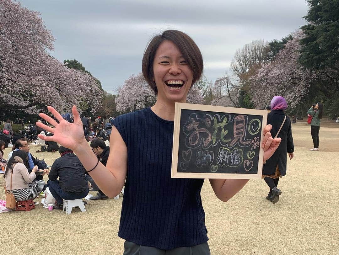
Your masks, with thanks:
<instances>
[{"instance_id":1,"label":"laughing woman in navy sleeveless top, holding up a chalkboard","mask_svg":"<svg viewBox=\"0 0 339 255\"><path fill-rule=\"evenodd\" d=\"M50 106L48 110L60 123L40 113L55 129L37 123L54 133L39 137L72 149L102 192L115 197L125 184L118 233L126 240L124 255L210 254L200 196L204 179L171 178L175 103L186 102L202 69L201 52L185 33L166 30L149 42L142 72L157 101L114 120L106 167L88 146L75 106L72 124ZM264 161L281 141L271 137L270 129L264 128ZM247 181L210 179L222 201L234 196Z\"/></svg>"}]
</instances>

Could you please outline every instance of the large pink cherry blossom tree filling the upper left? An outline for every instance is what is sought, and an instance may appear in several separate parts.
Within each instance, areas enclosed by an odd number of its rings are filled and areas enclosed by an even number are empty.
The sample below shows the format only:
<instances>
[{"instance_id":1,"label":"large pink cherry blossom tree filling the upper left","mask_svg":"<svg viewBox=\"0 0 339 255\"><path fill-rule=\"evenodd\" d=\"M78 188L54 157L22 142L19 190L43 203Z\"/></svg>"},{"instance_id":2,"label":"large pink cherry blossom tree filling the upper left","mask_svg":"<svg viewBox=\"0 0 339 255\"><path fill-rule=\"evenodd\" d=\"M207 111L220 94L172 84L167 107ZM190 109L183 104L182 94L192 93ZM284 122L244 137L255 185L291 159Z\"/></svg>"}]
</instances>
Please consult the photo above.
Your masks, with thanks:
<instances>
[{"instance_id":1,"label":"large pink cherry blossom tree filling the upper left","mask_svg":"<svg viewBox=\"0 0 339 255\"><path fill-rule=\"evenodd\" d=\"M100 106L95 78L50 56L53 42L38 12L0 0L0 110L33 114L47 104L59 111L84 102L93 110Z\"/></svg>"}]
</instances>

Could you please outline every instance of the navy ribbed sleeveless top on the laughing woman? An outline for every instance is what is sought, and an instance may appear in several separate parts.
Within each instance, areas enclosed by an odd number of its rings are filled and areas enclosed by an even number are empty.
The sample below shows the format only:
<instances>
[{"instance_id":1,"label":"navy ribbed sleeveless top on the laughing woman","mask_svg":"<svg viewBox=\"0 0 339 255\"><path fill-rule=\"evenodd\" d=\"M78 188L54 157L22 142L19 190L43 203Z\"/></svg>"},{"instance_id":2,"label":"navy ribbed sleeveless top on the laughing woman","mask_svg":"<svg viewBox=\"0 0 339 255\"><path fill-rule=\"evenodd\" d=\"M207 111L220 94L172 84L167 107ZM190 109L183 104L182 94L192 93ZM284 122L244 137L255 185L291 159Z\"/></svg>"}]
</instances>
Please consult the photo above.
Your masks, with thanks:
<instances>
[{"instance_id":1,"label":"navy ribbed sleeveless top on the laughing woman","mask_svg":"<svg viewBox=\"0 0 339 255\"><path fill-rule=\"evenodd\" d=\"M127 146L118 236L164 250L206 242L204 179L171 178L174 122L148 107L118 116L114 126Z\"/></svg>"}]
</instances>

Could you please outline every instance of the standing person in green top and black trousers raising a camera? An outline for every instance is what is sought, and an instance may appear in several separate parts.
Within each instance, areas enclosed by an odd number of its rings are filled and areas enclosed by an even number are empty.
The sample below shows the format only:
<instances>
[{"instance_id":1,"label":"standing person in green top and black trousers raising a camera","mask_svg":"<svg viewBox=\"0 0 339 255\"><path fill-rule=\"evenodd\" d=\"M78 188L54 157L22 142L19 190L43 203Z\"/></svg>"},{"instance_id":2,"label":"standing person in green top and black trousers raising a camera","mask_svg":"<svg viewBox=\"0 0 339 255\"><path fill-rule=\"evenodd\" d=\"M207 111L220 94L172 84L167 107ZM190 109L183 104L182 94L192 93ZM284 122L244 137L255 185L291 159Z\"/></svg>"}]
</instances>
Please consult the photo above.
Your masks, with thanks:
<instances>
[{"instance_id":1,"label":"standing person in green top and black trousers raising a camera","mask_svg":"<svg viewBox=\"0 0 339 255\"><path fill-rule=\"evenodd\" d=\"M320 130L320 120L322 118L322 103L318 102L317 104L312 104L312 107L307 111L307 114L312 116L311 121L311 135L313 139L313 149L312 151L319 150L319 130Z\"/></svg>"}]
</instances>

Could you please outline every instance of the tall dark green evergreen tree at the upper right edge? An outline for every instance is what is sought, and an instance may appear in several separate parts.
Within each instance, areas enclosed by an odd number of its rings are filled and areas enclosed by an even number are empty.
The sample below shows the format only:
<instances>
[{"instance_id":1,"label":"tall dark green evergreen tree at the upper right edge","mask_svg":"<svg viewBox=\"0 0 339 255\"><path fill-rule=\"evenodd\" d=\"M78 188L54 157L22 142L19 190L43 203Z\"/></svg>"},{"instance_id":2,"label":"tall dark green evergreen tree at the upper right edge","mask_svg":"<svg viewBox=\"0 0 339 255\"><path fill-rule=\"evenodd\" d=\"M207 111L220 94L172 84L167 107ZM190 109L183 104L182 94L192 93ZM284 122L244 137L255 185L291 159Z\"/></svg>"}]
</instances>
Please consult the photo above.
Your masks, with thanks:
<instances>
[{"instance_id":1,"label":"tall dark green evergreen tree at the upper right edge","mask_svg":"<svg viewBox=\"0 0 339 255\"><path fill-rule=\"evenodd\" d=\"M317 74L314 84L324 95L324 111L339 113L339 0L309 0L310 9L302 26L299 62Z\"/></svg>"}]
</instances>

